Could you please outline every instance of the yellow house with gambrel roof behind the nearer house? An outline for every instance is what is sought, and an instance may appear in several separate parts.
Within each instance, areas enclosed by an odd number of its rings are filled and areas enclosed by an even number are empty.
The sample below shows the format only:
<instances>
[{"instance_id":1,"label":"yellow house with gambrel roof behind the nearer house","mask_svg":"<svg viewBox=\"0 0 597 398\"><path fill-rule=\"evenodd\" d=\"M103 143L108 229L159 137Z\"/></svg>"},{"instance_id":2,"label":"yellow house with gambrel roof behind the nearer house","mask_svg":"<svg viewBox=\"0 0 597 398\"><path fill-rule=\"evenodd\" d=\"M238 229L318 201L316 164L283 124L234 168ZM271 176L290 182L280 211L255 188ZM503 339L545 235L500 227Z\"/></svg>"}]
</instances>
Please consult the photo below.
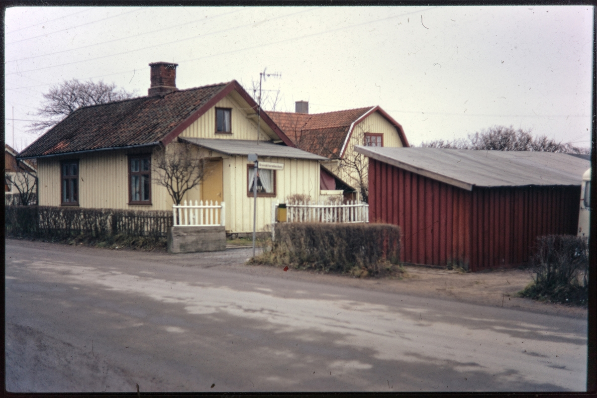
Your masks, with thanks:
<instances>
[{"instance_id":1,"label":"yellow house with gambrel roof behind the nearer house","mask_svg":"<svg viewBox=\"0 0 597 398\"><path fill-rule=\"evenodd\" d=\"M379 106L309 114L307 101L296 112L267 112L297 148L324 156L321 187L342 190L346 199L367 200L368 159L355 145L408 147L402 126Z\"/></svg>"}]
</instances>

